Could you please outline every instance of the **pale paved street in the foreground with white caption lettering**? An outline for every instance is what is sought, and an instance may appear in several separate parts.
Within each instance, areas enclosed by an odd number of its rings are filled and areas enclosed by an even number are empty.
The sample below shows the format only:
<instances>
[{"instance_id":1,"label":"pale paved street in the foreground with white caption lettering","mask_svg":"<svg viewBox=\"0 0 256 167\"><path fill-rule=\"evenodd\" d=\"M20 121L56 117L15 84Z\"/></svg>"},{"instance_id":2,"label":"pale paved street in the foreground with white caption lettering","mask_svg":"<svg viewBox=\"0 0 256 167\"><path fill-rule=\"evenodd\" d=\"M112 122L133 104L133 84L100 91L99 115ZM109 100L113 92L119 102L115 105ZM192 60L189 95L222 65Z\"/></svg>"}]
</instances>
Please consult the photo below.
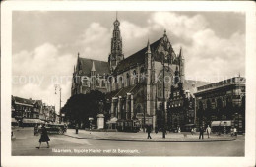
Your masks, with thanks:
<instances>
[{"instance_id":1,"label":"pale paved street in the foreground with white caption lettering","mask_svg":"<svg viewBox=\"0 0 256 167\"><path fill-rule=\"evenodd\" d=\"M244 156L244 139L216 142L137 142L77 139L50 135L50 148L32 128L14 130L12 155L18 156Z\"/></svg>"}]
</instances>

